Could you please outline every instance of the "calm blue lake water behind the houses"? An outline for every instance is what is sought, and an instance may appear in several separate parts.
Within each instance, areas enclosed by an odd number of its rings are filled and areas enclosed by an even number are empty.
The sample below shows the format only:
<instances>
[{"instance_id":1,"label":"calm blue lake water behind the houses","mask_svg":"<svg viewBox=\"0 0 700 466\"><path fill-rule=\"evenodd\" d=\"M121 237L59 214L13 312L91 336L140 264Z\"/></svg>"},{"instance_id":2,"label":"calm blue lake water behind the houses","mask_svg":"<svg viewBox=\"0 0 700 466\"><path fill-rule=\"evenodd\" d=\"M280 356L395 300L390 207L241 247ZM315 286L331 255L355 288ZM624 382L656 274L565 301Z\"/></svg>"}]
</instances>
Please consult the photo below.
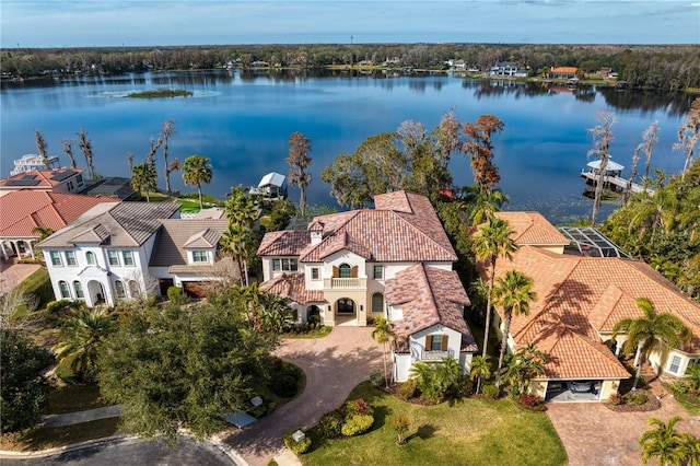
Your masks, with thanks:
<instances>
[{"instance_id":1,"label":"calm blue lake water behind the houses","mask_svg":"<svg viewBox=\"0 0 700 466\"><path fill-rule=\"evenodd\" d=\"M190 97L135 100L130 92L186 89ZM493 114L505 124L494 138L494 163L500 187L511 197L509 210L538 210L562 222L590 215L592 200L582 196L581 170L592 148L587 129L598 110L615 113L612 160L626 165L641 135L660 123L661 141L652 165L679 173L684 155L674 152L677 129L692 96L619 92L611 89L546 89L541 84L471 81L445 74L419 77L240 73L206 71L147 73L116 77L78 77L23 85L3 85L0 92L0 174L8 176L12 161L35 153L34 129L42 130L49 152L68 165L60 140L77 139L84 128L93 144L94 165L105 176L128 176L127 151L135 163L144 162L149 137L158 137L165 119L175 119L177 135L170 140L170 158L191 154L212 160L213 179L203 191L223 197L231 186L256 185L268 172L287 174L288 139L301 131L312 139L308 187L312 203L337 206L320 171L342 152L354 152L369 136L394 131L412 119L433 128L455 108L459 121ZM79 166L84 158L74 147ZM160 158L160 152L159 152ZM160 186L163 187L159 160ZM643 166L643 161L640 166ZM455 184L472 183L464 155L453 156ZM643 168L642 168L643 170ZM191 191L182 175L171 176L173 189ZM290 187L299 199L299 189ZM607 215L616 206L604 206Z\"/></svg>"}]
</instances>

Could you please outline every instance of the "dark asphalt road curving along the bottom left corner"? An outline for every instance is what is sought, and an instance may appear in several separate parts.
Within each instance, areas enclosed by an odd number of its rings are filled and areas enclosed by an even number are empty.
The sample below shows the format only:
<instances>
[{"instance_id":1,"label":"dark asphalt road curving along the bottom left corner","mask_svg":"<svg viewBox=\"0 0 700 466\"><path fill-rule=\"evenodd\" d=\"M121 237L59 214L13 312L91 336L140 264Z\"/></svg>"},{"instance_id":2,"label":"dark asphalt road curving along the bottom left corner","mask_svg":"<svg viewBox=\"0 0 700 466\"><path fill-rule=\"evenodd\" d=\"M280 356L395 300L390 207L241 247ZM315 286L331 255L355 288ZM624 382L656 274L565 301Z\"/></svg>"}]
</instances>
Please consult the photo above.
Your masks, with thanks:
<instances>
[{"instance_id":1,"label":"dark asphalt road curving along the bottom left corner","mask_svg":"<svg viewBox=\"0 0 700 466\"><path fill-rule=\"evenodd\" d=\"M0 459L2 466L119 465L119 466L235 466L222 451L209 443L180 439L175 446L163 441L128 440L108 445L90 445L40 458Z\"/></svg>"}]
</instances>

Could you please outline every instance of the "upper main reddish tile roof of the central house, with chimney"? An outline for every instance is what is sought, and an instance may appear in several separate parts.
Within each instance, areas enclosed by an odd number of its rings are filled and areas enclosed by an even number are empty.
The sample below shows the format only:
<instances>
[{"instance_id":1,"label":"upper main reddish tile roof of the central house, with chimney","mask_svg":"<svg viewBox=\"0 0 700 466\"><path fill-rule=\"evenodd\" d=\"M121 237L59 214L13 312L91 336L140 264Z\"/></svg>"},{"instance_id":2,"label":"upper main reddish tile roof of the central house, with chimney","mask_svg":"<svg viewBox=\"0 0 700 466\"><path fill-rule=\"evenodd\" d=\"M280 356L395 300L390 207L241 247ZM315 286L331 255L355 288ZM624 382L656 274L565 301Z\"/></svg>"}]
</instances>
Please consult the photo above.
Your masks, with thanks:
<instances>
[{"instance_id":1,"label":"upper main reddish tile roof of the central house, with chimney","mask_svg":"<svg viewBox=\"0 0 700 466\"><path fill-rule=\"evenodd\" d=\"M299 256L303 263L320 263L348 249L373 261L457 260L428 198L397 191L376 196L374 210L315 218L310 228L323 229L318 244L311 244L310 230L267 233L258 255Z\"/></svg>"}]
</instances>

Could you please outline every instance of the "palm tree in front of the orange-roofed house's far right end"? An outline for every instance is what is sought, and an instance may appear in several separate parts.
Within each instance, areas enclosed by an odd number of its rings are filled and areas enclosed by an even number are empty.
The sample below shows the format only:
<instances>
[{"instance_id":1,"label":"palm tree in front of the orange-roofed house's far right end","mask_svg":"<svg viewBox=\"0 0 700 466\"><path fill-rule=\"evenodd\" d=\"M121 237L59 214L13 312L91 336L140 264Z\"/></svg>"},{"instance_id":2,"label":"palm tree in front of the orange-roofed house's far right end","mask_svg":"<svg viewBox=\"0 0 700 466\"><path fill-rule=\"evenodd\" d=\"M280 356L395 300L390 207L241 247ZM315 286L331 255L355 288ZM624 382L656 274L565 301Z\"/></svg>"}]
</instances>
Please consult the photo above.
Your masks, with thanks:
<instances>
[{"instance_id":1,"label":"palm tree in front of the orange-roofed house's far right end","mask_svg":"<svg viewBox=\"0 0 700 466\"><path fill-rule=\"evenodd\" d=\"M682 321L667 312L656 313L654 304L649 299L637 300L637 307L642 311L643 316L623 318L612 327L612 338L619 334L627 334L622 349L627 353L637 350L635 361L641 357L632 389L637 389L644 359L649 358L652 351L658 351L663 346L669 349L678 348L690 341L692 337L690 329Z\"/></svg>"}]
</instances>

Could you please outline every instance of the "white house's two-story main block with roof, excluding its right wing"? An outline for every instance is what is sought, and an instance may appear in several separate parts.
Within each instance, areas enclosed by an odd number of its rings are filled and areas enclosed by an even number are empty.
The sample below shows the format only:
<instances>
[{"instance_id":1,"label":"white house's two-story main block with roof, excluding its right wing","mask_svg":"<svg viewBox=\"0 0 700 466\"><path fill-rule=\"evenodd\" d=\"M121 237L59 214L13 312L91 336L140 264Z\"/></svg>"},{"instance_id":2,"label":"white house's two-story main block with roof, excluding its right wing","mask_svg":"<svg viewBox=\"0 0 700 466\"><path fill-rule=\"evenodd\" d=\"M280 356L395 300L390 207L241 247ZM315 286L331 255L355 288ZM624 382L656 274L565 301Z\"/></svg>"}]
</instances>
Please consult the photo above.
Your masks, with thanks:
<instances>
[{"instance_id":1,"label":"white house's two-story main block with roof, excluding its right wing","mask_svg":"<svg viewBox=\"0 0 700 466\"><path fill-rule=\"evenodd\" d=\"M156 293L149 271L162 221L175 202L120 202L93 208L38 244L57 300L100 303Z\"/></svg>"}]
</instances>

